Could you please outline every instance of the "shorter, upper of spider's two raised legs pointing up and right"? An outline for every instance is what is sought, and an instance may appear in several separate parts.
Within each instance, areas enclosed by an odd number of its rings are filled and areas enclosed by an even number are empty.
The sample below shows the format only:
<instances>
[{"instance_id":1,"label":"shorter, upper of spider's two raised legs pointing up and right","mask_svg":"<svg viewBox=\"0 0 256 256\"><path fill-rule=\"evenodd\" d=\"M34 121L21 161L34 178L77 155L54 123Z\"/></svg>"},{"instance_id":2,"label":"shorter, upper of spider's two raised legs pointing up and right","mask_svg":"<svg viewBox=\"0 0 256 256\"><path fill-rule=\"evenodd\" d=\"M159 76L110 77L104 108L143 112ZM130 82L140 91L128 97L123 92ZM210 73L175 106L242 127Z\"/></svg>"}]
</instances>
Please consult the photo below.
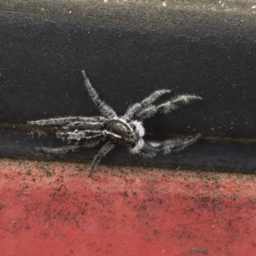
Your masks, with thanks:
<instances>
[{"instance_id":1,"label":"shorter, upper of spider's two raised legs pointing up and right","mask_svg":"<svg viewBox=\"0 0 256 256\"><path fill-rule=\"evenodd\" d=\"M135 103L131 105L123 116L123 119L130 120L134 117L137 112L143 111L143 109L150 106L153 102L155 102L160 96L164 96L165 94L171 93L172 90L156 90L148 97L144 98L143 101L139 103Z\"/></svg>"}]
</instances>

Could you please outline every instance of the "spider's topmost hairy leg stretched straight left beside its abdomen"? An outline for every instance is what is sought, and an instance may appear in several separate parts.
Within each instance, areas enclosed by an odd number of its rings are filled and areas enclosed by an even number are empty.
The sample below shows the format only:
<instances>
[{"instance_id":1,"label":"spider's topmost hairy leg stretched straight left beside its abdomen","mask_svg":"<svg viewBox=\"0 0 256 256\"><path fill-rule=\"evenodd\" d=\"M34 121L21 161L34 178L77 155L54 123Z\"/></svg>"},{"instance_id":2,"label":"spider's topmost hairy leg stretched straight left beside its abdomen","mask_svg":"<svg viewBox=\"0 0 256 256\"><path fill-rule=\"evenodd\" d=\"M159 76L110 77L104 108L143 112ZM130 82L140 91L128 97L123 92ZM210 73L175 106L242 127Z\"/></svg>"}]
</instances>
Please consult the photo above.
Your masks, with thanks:
<instances>
[{"instance_id":1,"label":"spider's topmost hairy leg stretched straight left beside its abdomen","mask_svg":"<svg viewBox=\"0 0 256 256\"><path fill-rule=\"evenodd\" d=\"M62 126L67 125L71 122L104 122L107 119L101 116L96 117L82 117L82 116L67 116L63 118L54 118L54 119L39 119L36 121L28 121L28 125L38 125L38 126Z\"/></svg>"}]
</instances>

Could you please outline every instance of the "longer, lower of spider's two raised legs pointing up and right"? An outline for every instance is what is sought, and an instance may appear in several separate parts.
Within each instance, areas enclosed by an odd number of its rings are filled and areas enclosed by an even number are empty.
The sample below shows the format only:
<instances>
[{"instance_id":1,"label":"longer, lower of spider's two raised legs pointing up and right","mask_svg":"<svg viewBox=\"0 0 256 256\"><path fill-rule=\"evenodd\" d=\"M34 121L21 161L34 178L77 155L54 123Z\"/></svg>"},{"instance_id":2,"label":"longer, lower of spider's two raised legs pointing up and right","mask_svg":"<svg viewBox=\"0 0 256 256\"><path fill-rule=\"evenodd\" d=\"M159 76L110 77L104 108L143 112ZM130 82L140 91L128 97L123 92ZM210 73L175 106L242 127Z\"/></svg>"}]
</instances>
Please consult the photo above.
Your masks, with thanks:
<instances>
[{"instance_id":1,"label":"longer, lower of spider's two raised legs pointing up and right","mask_svg":"<svg viewBox=\"0 0 256 256\"><path fill-rule=\"evenodd\" d=\"M187 105L192 101L201 100L201 96L195 95L181 95L172 98L171 100L164 102L159 105L151 105L148 108L144 108L142 111L135 114L136 119L148 119L152 117L155 113L169 113L172 110L175 110L179 105Z\"/></svg>"}]
</instances>

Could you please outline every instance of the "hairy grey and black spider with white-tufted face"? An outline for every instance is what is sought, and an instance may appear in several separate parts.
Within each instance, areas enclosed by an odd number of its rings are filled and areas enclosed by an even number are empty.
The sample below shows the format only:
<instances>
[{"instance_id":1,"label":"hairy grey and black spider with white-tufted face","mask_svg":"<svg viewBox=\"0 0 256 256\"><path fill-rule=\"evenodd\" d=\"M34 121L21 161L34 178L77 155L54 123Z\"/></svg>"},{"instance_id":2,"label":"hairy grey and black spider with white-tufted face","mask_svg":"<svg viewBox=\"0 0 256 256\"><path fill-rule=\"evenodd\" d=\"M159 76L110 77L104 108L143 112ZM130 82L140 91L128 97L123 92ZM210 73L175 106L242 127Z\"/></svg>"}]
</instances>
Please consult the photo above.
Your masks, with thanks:
<instances>
[{"instance_id":1,"label":"hairy grey and black spider with white-tufted face","mask_svg":"<svg viewBox=\"0 0 256 256\"><path fill-rule=\"evenodd\" d=\"M84 70L82 71L82 75L89 96L102 116L67 116L39 119L29 121L28 124L57 127L57 131L55 132L56 137L61 138L68 144L73 143L72 145L60 148L38 148L45 153L64 154L83 148L93 148L99 143L104 143L92 161L89 177L92 177L102 157L108 154L116 145L129 148L132 154L154 157L159 152L168 154L183 150L183 148L187 148L201 137L201 134L197 134L193 137L175 138L156 142L145 141L143 139L145 135L143 120L152 117L155 113L169 113L180 105L188 104L195 100L201 100L201 96L180 95L172 97L167 102L154 104L160 96L171 93L171 90L156 90L151 95L144 98L143 101L131 105L125 114L118 116L113 108L109 107L100 99L96 90L90 84L90 80Z\"/></svg>"}]
</instances>

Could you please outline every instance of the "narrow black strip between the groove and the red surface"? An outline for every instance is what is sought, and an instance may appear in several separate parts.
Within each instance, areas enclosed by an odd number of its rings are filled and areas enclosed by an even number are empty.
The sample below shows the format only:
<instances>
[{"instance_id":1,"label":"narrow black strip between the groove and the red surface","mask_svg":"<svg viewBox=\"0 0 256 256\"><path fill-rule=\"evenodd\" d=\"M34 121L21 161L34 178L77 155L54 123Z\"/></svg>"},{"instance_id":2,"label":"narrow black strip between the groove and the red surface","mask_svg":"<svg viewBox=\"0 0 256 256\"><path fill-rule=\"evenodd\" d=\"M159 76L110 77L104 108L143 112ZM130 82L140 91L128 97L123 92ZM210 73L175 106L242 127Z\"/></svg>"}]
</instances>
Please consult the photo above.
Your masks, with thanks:
<instances>
[{"instance_id":1,"label":"narrow black strip between the groove and the red surface","mask_svg":"<svg viewBox=\"0 0 256 256\"><path fill-rule=\"evenodd\" d=\"M0 155L20 159L75 160L91 162L100 149L84 149L68 154L44 154L35 147L58 147L61 144L53 135L44 136L26 131L0 131ZM126 148L116 147L102 159L102 164L120 166L159 166L189 168L191 170L217 170L224 172L255 172L256 145L246 146L232 143L199 143L176 154L159 154L153 159L143 159L137 154L129 154Z\"/></svg>"}]
</instances>

